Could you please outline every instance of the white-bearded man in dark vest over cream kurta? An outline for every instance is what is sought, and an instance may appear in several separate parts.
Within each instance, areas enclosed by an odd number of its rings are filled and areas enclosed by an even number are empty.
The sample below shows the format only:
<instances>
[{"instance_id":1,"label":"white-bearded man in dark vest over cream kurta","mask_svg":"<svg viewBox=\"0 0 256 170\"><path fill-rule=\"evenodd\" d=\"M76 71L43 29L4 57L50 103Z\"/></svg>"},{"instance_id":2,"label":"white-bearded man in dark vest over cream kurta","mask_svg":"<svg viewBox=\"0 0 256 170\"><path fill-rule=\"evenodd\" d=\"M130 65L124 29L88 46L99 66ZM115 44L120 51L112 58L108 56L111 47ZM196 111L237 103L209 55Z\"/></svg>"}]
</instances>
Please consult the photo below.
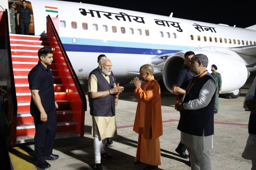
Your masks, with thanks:
<instances>
[{"instance_id":1,"label":"white-bearded man in dark vest over cream kurta","mask_svg":"<svg viewBox=\"0 0 256 170\"><path fill-rule=\"evenodd\" d=\"M92 135L94 137L94 170L102 170L101 157L112 158L105 152L108 137L116 137L115 96L124 87L116 87L111 75L111 61L103 57L99 70L92 73L88 81L88 98L92 115Z\"/></svg>"}]
</instances>

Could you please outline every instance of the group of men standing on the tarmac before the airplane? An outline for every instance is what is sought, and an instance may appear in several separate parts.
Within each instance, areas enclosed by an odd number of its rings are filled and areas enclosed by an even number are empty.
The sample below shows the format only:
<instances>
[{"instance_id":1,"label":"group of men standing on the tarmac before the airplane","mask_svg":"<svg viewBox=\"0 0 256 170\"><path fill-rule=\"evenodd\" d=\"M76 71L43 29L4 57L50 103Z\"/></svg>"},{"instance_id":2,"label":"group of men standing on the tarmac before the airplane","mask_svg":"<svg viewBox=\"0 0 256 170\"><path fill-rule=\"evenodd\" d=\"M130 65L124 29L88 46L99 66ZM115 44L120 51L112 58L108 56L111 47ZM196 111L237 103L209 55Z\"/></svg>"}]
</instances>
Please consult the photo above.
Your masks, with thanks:
<instances>
[{"instance_id":1,"label":"group of men standing on the tarmac before the airplane","mask_svg":"<svg viewBox=\"0 0 256 170\"><path fill-rule=\"evenodd\" d=\"M51 166L46 160L59 158L52 153L57 129L58 104L54 97L52 72L49 67L53 61L53 51L49 48L41 48L38 57L39 62L29 72L28 81L32 94L30 113L36 127L34 139L36 163L37 166L45 169ZM89 76L88 98L93 125L94 169L103 170L101 158L112 158L112 155L105 151L105 145L107 140L117 137L115 107L117 96L123 92L124 87L117 86L109 58L101 54L97 62L98 67ZM181 157L189 158L189 166L192 170L211 170L209 150L213 147L213 121L214 114L218 112L216 98L221 94L221 75L216 72L215 64L211 65L212 73L208 72L206 69L208 57L204 54L188 51L184 55L184 62L185 66L178 72L173 85L173 92L179 94L175 109L180 112L177 128L181 131L181 140L175 151ZM144 170L154 170L161 165L159 140L163 134L161 92L150 64L142 65L139 73L141 79L139 77L133 79L134 97L138 99L133 126L133 130L138 133L134 164L146 164ZM251 111L251 115L249 137L242 155L245 159L252 160L253 168L256 166L255 84L256 78L244 102L244 107ZM189 155L185 153L186 149Z\"/></svg>"}]
</instances>

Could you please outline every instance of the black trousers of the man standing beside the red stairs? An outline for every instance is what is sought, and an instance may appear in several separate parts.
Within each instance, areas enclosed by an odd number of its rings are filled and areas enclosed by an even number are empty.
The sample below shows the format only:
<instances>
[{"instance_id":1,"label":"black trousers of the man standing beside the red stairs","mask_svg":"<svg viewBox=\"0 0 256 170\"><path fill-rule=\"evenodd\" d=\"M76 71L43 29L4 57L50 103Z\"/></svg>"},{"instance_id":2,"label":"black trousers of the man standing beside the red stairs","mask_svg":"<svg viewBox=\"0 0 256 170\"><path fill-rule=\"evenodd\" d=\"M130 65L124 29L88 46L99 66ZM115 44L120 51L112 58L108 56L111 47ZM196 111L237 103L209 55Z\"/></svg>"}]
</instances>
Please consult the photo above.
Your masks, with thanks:
<instances>
[{"instance_id":1,"label":"black trousers of the man standing beside the red stairs","mask_svg":"<svg viewBox=\"0 0 256 170\"><path fill-rule=\"evenodd\" d=\"M36 161L42 162L45 156L52 154L57 130L56 109L47 113L47 122L40 121L40 113L32 116L36 127L34 137Z\"/></svg>"}]
</instances>

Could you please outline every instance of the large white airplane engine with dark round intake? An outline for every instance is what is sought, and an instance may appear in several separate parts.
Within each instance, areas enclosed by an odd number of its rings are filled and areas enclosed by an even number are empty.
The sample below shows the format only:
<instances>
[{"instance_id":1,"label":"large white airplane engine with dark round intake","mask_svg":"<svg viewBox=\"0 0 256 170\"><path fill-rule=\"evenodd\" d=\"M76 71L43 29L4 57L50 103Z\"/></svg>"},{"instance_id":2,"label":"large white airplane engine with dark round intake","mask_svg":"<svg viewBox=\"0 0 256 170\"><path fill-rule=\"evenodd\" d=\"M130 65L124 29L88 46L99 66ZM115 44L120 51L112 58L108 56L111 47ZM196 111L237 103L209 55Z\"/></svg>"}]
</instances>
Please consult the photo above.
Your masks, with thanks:
<instances>
[{"instance_id":1,"label":"large white airplane engine with dark round intake","mask_svg":"<svg viewBox=\"0 0 256 170\"><path fill-rule=\"evenodd\" d=\"M195 54L205 54L208 57L207 70L211 73L211 65L217 66L217 72L222 77L221 93L239 93L239 89L244 85L249 72L244 61L235 55L218 53L207 50L193 50ZM175 82L178 71L183 67L184 54L187 51L181 51L171 55L163 67L163 82L168 91L172 93L172 86ZM239 94L238 94L239 95ZM238 97L237 95L237 97ZM232 97L234 98L234 97ZM236 97L235 97L236 98Z\"/></svg>"}]
</instances>

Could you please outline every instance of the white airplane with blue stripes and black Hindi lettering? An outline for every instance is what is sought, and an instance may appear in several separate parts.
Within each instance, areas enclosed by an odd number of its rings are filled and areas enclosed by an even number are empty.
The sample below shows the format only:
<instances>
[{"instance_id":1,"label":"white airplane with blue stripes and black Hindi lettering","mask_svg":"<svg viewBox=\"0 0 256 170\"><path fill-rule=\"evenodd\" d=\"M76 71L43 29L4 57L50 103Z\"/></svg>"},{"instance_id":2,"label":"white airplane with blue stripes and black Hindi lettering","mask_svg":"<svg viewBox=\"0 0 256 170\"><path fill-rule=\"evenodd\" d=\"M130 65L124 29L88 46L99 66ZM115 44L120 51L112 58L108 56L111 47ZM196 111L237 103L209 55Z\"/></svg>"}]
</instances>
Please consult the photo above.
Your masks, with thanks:
<instances>
[{"instance_id":1,"label":"white airplane with blue stripes and black Hindi lettering","mask_svg":"<svg viewBox=\"0 0 256 170\"><path fill-rule=\"evenodd\" d=\"M9 9L10 3L4 0L0 5ZM256 70L256 25L244 29L56 0L30 0L28 7L34 13L30 33L35 36L46 34L46 16L58 16L59 37L81 80L97 67L97 56L105 54L120 84L138 76L140 66L151 64L160 86L172 92L184 53L194 51L207 55L208 70L212 64L218 66L222 94L237 98Z\"/></svg>"}]
</instances>

